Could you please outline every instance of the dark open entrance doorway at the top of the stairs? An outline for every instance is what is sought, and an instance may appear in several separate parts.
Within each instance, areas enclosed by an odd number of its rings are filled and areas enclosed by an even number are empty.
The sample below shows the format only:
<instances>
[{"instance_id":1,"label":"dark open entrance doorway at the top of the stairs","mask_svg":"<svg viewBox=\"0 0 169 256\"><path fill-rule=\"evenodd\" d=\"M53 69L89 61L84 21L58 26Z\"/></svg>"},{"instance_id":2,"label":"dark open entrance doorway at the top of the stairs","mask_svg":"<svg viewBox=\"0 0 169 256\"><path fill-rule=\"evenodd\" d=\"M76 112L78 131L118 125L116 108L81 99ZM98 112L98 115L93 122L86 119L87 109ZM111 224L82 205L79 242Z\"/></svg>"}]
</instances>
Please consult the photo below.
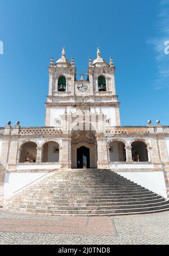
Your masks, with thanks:
<instances>
[{"instance_id":1,"label":"dark open entrance doorway at the top of the stairs","mask_svg":"<svg viewBox=\"0 0 169 256\"><path fill-rule=\"evenodd\" d=\"M77 148L77 168L90 168L90 149L84 146Z\"/></svg>"}]
</instances>

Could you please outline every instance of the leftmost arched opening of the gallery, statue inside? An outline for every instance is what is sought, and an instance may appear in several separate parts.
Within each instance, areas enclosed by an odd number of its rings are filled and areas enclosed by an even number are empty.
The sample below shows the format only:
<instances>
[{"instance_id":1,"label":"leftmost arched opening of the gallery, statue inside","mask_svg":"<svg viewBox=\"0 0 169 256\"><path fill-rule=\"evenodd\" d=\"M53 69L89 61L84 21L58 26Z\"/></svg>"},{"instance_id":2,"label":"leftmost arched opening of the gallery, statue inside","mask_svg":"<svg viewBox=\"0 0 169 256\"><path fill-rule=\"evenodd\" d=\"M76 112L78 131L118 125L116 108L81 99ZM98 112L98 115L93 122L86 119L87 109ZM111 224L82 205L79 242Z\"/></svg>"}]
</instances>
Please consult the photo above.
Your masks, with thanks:
<instances>
[{"instance_id":1,"label":"leftmost arched opening of the gallery, statue inside","mask_svg":"<svg viewBox=\"0 0 169 256\"><path fill-rule=\"evenodd\" d=\"M19 162L35 162L37 159L37 144L26 142L21 147Z\"/></svg>"}]
</instances>

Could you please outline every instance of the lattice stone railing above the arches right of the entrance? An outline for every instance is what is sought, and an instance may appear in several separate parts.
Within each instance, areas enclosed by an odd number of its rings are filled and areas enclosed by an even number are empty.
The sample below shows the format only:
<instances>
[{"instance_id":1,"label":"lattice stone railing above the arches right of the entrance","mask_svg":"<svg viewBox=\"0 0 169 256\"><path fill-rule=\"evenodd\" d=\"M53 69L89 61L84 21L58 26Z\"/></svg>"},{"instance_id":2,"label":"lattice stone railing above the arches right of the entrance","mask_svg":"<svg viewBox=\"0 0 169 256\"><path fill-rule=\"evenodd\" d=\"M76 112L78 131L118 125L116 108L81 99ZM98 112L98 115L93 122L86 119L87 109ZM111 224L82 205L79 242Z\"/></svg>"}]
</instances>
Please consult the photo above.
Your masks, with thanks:
<instances>
[{"instance_id":1,"label":"lattice stone railing above the arches right of the entrance","mask_svg":"<svg viewBox=\"0 0 169 256\"><path fill-rule=\"evenodd\" d=\"M148 127L112 127L107 128L106 133L145 134L149 133L149 129Z\"/></svg>"}]
</instances>

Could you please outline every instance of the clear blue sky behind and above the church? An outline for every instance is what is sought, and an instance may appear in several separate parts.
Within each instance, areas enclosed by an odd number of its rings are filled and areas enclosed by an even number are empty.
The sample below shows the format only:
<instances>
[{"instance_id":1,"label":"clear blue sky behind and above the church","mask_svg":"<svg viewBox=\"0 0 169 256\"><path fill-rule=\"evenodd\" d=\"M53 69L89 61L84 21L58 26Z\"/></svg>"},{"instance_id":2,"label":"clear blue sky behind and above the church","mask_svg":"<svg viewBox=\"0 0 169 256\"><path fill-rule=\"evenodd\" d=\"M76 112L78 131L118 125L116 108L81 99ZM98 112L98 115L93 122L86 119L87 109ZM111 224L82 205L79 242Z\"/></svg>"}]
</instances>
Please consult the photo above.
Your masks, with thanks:
<instances>
[{"instance_id":1,"label":"clear blue sky behind and above the church","mask_svg":"<svg viewBox=\"0 0 169 256\"><path fill-rule=\"evenodd\" d=\"M122 125L169 125L168 16L168 0L0 0L0 126L45 125L47 66L63 46L78 75L97 46L113 57Z\"/></svg>"}]
</instances>

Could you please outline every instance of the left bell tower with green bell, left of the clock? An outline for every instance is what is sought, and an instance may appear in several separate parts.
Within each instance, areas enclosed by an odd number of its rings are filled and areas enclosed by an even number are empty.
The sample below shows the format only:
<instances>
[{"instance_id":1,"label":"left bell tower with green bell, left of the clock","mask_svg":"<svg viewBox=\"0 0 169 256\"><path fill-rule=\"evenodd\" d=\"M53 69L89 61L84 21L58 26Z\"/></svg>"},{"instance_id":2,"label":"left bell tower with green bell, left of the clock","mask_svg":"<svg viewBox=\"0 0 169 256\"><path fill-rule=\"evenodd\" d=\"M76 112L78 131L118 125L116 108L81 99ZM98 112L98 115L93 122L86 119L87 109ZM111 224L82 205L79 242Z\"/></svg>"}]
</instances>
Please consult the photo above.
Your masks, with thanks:
<instances>
[{"instance_id":1,"label":"left bell tower with green bell, left of the clock","mask_svg":"<svg viewBox=\"0 0 169 256\"><path fill-rule=\"evenodd\" d=\"M61 52L61 58L54 64L54 59L51 58L50 66L48 67L49 86L46 107L46 126L61 125L59 118L67 107L68 101L74 95L74 82L76 68L74 59L71 62L66 59L65 49Z\"/></svg>"}]
</instances>

